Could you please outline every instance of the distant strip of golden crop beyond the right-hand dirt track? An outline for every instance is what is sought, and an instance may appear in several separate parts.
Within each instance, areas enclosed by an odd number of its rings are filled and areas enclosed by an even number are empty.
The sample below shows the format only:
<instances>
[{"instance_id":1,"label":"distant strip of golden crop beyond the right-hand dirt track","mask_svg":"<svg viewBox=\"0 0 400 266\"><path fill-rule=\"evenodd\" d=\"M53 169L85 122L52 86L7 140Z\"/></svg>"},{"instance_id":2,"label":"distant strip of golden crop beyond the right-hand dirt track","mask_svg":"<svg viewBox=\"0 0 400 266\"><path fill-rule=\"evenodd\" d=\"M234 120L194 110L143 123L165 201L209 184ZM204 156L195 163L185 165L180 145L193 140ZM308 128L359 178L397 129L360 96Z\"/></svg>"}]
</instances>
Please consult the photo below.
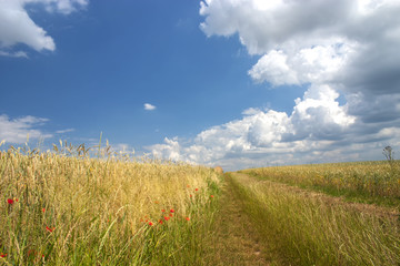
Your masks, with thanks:
<instances>
[{"instance_id":1,"label":"distant strip of golden crop beyond the right-hand dirt track","mask_svg":"<svg viewBox=\"0 0 400 266\"><path fill-rule=\"evenodd\" d=\"M351 201L400 207L400 161L263 167L243 173Z\"/></svg>"}]
</instances>

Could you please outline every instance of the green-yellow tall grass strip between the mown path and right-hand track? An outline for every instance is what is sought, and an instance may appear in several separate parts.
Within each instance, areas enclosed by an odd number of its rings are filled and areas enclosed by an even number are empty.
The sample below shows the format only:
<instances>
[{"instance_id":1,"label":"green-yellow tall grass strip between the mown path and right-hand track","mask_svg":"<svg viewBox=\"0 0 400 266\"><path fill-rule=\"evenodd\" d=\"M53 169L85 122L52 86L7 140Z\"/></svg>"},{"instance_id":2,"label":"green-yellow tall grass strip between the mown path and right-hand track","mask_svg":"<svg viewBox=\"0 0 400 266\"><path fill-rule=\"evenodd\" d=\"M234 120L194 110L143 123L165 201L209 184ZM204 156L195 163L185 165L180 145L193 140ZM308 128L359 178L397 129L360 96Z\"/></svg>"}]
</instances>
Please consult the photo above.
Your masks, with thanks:
<instances>
[{"instance_id":1,"label":"green-yellow tall grass strip between the mown path and right-hand track","mask_svg":"<svg viewBox=\"0 0 400 266\"><path fill-rule=\"evenodd\" d=\"M247 175L234 174L228 181L271 252L286 265L400 264L396 217Z\"/></svg>"}]
</instances>

